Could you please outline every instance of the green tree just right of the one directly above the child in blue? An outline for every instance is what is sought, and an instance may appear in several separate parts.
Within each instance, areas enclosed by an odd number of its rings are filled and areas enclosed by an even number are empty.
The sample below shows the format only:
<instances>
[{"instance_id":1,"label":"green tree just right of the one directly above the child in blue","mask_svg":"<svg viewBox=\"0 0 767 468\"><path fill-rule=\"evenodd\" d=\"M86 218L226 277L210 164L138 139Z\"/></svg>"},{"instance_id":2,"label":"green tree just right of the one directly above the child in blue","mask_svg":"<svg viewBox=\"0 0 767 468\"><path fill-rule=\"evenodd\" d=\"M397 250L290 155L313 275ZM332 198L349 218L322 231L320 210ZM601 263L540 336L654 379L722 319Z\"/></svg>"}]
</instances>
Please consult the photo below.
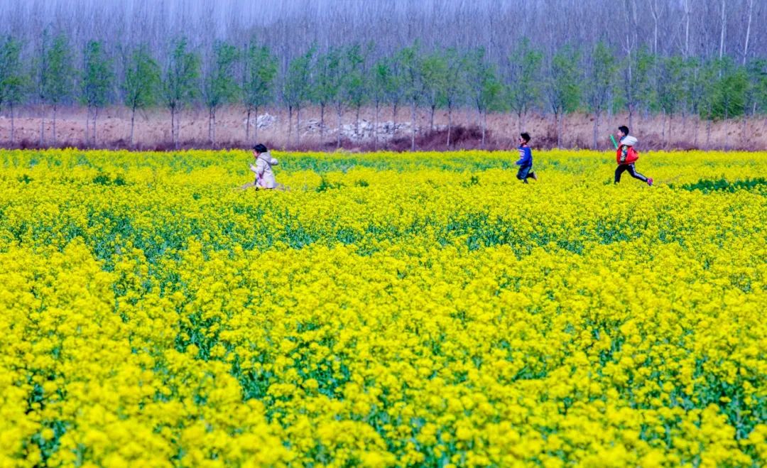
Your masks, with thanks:
<instances>
[{"instance_id":1,"label":"green tree just right of the one directly above the child in blue","mask_svg":"<svg viewBox=\"0 0 767 468\"><path fill-rule=\"evenodd\" d=\"M578 68L580 52L565 45L555 52L548 67L548 79L544 94L557 127L557 147L561 147L565 115L574 112L581 104L581 74Z\"/></svg>"}]
</instances>

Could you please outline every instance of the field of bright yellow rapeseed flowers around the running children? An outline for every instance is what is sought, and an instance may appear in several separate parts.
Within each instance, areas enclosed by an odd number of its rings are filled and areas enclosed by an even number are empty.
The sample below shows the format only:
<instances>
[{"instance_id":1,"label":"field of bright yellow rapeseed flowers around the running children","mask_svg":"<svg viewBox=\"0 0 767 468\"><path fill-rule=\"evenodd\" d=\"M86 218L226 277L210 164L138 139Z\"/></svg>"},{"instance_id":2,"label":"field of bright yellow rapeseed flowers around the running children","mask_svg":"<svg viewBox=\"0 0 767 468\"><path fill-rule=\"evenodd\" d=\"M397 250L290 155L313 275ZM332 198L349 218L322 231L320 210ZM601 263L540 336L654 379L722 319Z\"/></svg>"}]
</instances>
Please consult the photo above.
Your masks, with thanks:
<instances>
[{"instance_id":1,"label":"field of bright yellow rapeseed flowers around the running children","mask_svg":"<svg viewBox=\"0 0 767 468\"><path fill-rule=\"evenodd\" d=\"M767 154L0 151L0 466L760 466Z\"/></svg>"}]
</instances>

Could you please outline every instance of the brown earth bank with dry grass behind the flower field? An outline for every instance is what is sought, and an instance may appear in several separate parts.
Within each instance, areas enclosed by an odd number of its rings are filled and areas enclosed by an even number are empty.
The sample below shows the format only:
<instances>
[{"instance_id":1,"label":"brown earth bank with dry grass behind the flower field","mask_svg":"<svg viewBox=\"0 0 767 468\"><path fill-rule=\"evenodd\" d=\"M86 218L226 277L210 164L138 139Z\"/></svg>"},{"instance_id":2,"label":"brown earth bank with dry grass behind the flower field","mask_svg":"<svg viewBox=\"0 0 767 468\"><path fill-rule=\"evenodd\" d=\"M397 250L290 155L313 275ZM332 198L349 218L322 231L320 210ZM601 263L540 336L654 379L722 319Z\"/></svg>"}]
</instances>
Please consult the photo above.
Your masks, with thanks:
<instances>
[{"instance_id":1,"label":"brown earth bank with dry grass behind the flower field","mask_svg":"<svg viewBox=\"0 0 767 468\"><path fill-rule=\"evenodd\" d=\"M256 140L281 150L410 150L413 126L410 110L400 107L395 114L391 107L348 110L337 124L337 114L326 109L324 125L319 108L301 110L300 121L287 110L266 108L252 115L246 137L245 110L227 107L216 114L215 142L209 139L206 109L183 112L179 124L179 146L183 148L251 147ZM44 115L45 118L41 118ZM96 140L92 139L92 124L86 140L86 110L59 109L54 140L52 113L38 107L17 110L14 138L11 139L11 119L0 117L0 147L97 147L109 149L171 150L170 113L152 110L137 114L133 145L130 144L130 111L122 107L100 112L96 124ZM553 116L528 115L523 122L512 114L489 114L487 131L482 142L481 119L476 112L460 110L453 113L453 127L448 132L448 115L439 110L434 115L420 110L416 115L417 150L509 149L515 147L520 130L532 135L532 146L551 148L557 143ZM603 115L597 129L597 147L611 148L610 134L618 125L628 124L625 114ZM41 129L43 138L41 140ZM297 130L298 129L298 130ZM340 133L340 135L339 135ZM449 133L449 135L448 135ZM634 116L631 133L640 140L640 150L765 150L767 149L767 118L749 118L707 122L695 116ZM448 145L449 142L449 145ZM594 143L594 118L585 114L565 117L561 147L591 148Z\"/></svg>"}]
</instances>

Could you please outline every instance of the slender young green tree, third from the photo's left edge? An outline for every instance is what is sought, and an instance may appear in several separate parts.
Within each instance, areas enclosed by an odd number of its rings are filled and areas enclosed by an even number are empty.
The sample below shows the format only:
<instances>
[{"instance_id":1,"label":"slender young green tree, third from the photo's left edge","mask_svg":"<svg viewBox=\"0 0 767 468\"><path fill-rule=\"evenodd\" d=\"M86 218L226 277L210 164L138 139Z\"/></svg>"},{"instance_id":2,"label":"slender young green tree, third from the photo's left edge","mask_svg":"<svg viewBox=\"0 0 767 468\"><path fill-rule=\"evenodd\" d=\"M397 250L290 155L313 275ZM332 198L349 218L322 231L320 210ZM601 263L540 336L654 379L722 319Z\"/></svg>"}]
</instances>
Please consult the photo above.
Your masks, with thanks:
<instances>
[{"instance_id":1,"label":"slender young green tree, third from the photo's left edge","mask_svg":"<svg viewBox=\"0 0 767 468\"><path fill-rule=\"evenodd\" d=\"M114 83L114 71L112 61L107 57L104 46L99 41L88 41L85 44L83 57L81 102L87 108L85 141L88 141L88 120L92 118L93 132L91 132L91 144L95 146L98 111L109 103Z\"/></svg>"}]
</instances>

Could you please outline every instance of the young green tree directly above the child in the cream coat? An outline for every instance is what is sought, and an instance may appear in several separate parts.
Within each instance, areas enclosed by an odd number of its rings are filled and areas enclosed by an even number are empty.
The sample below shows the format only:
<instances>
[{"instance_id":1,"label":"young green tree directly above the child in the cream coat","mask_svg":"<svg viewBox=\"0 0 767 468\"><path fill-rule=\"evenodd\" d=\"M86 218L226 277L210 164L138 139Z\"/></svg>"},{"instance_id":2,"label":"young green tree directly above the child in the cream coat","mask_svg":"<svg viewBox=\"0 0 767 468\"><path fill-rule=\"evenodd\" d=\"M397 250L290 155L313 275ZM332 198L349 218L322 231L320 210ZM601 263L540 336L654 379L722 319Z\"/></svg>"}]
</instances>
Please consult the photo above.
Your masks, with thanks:
<instances>
[{"instance_id":1,"label":"young green tree directly above the child in the cream coat","mask_svg":"<svg viewBox=\"0 0 767 468\"><path fill-rule=\"evenodd\" d=\"M258 107L272 102L277 77L277 58L268 47L252 40L245 51L243 70L245 76L242 80L242 99L247 112L245 140L250 140L250 116L253 113L256 118L253 138L258 140Z\"/></svg>"}]
</instances>

